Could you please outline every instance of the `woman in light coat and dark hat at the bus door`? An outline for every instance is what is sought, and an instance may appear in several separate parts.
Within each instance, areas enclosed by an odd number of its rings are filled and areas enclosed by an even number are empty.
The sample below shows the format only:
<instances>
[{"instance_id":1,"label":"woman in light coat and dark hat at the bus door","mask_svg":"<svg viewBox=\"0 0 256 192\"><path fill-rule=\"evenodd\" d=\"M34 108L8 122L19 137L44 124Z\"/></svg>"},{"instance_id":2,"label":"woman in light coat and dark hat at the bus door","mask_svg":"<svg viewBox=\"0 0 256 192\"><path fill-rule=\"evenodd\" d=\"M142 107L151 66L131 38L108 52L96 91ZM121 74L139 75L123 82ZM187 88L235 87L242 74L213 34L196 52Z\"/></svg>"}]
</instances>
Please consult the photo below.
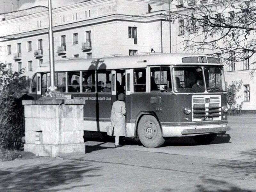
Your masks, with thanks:
<instances>
[{"instance_id":1,"label":"woman in light coat and dark hat at the bus door","mask_svg":"<svg viewBox=\"0 0 256 192\"><path fill-rule=\"evenodd\" d=\"M120 93L118 100L113 103L111 110L111 130L115 136L115 147L122 146L119 144L119 137L125 136L126 131L124 97L124 93Z\"/></svg>"}]
</instances>

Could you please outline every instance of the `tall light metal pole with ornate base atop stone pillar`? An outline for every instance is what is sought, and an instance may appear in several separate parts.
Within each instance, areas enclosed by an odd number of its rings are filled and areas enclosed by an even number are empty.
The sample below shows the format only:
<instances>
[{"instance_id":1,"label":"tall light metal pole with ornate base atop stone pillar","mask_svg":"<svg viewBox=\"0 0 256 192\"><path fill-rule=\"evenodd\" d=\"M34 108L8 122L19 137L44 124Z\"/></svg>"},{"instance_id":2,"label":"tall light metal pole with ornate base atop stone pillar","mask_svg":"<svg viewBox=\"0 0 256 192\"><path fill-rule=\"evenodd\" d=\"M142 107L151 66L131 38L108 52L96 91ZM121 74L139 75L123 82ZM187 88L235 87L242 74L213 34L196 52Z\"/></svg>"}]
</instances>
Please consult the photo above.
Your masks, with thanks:
<instances>
[{"instance_id":1,"label":"tall light metal pole with ornate base atop stone pillar","mask_svg":"<svg viewBox=\"0 0 256 192\"><path fill-rule=\"evenodd\" d=\"M55 91L57 87L55 86L54 79L54 48L53 48L53 32L52 32L52 2L48 0L49 9L49 56L50 56L50 87L49 90Z\"/></svg>"}]
</instances>

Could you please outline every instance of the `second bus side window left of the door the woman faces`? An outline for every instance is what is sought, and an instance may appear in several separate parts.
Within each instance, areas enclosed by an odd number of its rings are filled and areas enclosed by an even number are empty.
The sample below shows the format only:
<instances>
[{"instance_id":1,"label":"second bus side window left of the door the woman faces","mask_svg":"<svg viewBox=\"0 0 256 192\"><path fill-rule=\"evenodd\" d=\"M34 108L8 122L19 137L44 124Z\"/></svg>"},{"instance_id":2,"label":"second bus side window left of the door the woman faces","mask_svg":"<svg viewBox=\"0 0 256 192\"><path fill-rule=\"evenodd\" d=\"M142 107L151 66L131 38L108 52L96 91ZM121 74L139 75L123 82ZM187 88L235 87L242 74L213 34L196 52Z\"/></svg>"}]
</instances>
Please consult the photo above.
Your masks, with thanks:
<instances>
[{"instance_id":1,"label":"second bus side window left of the door the woman faces","mask_svg":"<svg viewBox=\"0 0 256 192\"><path fill-rule=\"evenodd\" d=\"M87 71L82 73L83 92L95 92L95 71Z\"/></svg>"}]
</instances>

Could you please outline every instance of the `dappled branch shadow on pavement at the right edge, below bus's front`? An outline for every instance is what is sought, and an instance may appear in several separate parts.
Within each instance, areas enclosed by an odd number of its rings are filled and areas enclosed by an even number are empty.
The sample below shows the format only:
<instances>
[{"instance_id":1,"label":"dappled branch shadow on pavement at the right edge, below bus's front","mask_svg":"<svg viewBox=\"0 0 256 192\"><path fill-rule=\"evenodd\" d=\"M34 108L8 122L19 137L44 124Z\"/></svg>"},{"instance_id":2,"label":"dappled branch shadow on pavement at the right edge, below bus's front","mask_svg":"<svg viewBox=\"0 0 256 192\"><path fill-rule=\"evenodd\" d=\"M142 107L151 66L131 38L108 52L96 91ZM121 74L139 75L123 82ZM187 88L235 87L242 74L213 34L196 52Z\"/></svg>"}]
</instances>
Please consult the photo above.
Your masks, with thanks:
<instances>
[{"instance_id":1,"label":"dappled branch shadow on pavement at the right edge, below bus's front","mask_svg":"<svg viewBox=\"0 0 256 192\"><path fill-rule=\"evenodd\" d=\"M256 179L256 148L249 151L240 152L240 161L223 160L212 165L213 168L224 168L232 177L239 179Z\"/></svg>"}]
</instances>

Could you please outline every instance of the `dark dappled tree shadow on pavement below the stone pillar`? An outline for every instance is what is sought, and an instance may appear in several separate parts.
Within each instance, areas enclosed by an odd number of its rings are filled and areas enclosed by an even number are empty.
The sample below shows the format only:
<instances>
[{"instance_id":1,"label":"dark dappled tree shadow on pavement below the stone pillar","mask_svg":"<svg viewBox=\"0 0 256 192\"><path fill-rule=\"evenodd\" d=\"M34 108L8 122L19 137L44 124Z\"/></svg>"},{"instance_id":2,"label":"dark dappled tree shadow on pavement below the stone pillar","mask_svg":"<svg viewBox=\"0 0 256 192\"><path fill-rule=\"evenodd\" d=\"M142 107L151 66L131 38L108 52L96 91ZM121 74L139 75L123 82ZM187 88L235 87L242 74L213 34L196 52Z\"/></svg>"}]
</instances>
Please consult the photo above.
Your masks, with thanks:
<instances>
[{"instance_id":1,"label":"dark dappled tree shadow on pavement below the stone pillar","mask_svg":"<svg viewBox=\"0 0 256 192\"><path fill-rule=\"evenodd\" d=\"M57 165L22 165L1 171L0 189L1 191L26 192L75 190L78 186L74 186L74 183L86 177L101 176L97 174L100 168L85 161L65 161ZM84 183L80 187L90 185L90 183Z\"/></svg>"}]
</instances>

